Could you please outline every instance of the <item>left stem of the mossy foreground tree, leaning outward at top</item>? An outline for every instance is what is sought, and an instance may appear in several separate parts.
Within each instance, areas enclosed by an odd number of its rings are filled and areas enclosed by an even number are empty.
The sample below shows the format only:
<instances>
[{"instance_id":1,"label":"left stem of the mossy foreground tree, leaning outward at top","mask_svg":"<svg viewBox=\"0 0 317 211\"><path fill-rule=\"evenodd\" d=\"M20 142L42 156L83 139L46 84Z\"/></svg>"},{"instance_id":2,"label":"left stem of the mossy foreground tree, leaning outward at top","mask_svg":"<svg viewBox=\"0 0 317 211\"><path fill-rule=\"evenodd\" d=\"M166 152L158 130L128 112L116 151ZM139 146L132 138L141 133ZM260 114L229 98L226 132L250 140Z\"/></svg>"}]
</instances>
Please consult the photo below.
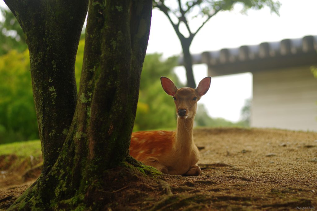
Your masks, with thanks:
<instances>
[{"instance_id":1,"label":"left stem of the mossy foreground tree, leaning outward at top","mask_svg":"<svg viewBox=\"0 0 317 211\"><path fill-rule=\"evenodd\" d=\"M43 172L48 172L59 156L75 111L74 64L88 0L5 3L20 23L29 47Z\"/></svg>"}]
</instances>

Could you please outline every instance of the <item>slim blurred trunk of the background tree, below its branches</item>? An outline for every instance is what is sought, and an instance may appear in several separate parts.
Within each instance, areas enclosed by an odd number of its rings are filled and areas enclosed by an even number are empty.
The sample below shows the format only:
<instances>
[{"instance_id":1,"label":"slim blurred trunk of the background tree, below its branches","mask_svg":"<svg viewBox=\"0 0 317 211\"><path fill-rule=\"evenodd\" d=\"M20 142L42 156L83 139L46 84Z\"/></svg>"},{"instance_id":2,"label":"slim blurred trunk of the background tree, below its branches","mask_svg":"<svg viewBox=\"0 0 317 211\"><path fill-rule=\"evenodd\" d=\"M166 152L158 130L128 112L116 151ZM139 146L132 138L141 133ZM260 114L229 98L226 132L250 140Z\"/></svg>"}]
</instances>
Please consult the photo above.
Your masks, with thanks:
<instances>
[{"instance_id":1,"label":"slim blurred trunk of the background tree, below its branches","mask_svg":"<svg viewBox=\"0 0 317 211\"><path fill-rule=\"evenodd\" d=\"M187 77L187 87L196 88L196 83L193 74L193 61L191 58L191 53L189 51L189 47L191 46L192 38L184 38L180 39L182 49L183 49L183 56L184 56L184 67L186 70L186 77Z\"/></svg>"}]
</instances>

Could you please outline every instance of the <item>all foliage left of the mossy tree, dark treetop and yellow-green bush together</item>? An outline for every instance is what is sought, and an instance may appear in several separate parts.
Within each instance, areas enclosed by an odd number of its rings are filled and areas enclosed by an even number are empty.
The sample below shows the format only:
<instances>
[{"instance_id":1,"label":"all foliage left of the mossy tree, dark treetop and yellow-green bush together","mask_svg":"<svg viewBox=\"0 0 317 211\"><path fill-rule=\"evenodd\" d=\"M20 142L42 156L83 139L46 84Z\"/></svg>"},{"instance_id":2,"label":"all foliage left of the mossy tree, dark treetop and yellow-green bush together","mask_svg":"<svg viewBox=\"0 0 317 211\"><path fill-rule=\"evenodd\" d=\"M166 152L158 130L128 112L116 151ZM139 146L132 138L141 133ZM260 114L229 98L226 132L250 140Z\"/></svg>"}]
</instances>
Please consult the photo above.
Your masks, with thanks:
<instances>
[{"instance_id":1,"label":"all foliage left of the mossy tree, dark treetop and yellow-green bush together","mask_svg":"<svg viewBox=\"0 0 317 211\"><path fill-rule=\"evenodd\" d=\"M31 87L29 51L10 10L0 8L0 144L36 139L38 129Z\"/></svg>"}]
</instances>

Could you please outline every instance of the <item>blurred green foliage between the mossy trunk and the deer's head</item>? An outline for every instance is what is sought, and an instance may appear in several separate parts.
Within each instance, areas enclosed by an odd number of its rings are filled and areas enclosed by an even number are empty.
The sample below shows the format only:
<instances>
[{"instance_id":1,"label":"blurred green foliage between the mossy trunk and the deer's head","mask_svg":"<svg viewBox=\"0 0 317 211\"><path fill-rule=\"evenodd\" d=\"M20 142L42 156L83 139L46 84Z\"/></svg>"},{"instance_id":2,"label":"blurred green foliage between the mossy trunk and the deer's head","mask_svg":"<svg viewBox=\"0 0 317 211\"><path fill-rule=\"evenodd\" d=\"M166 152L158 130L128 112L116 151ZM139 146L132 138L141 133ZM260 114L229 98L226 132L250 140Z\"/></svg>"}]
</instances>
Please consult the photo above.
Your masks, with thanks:
<instances>
[{"instance_id":1,"label":"blurred green foliage between the mossy trunk and the deer's head","mask_svg":"<svg viewBox=\"0 0 317 211\"><path fill-rule=\"evenodd\" d=\"M160 54L146 55L133 131L176 127L174 101L165 93L160 81L160 77L165 76L173 80L176 86L183 86L172 73L176 64L176 58L162 61Z\"/></svg>"}]
</instances>

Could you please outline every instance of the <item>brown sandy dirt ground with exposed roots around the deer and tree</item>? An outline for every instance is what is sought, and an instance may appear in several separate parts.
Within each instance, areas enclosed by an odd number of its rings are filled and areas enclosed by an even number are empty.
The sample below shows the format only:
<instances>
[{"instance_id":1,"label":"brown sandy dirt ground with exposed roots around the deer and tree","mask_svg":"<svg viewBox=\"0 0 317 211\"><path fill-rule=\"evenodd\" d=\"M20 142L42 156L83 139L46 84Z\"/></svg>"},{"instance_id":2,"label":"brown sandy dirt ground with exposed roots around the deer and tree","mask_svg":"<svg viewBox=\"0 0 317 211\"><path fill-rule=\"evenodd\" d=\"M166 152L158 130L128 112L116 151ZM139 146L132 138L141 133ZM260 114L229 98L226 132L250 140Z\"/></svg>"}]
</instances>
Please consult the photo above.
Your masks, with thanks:
<instances>
[{"instance_id":1,"label":"brown sandy dirt ground with exposed roots around the deer and tree","mask_svg":"<svg viewBox=\"0 0 317 211\"><path fill-rule=\"evenodd\" d=\"M317 133L202 128L194 138L204 146L200 176L120 183L107 192L114 201L105 210L316 210ZM25 182L0 172L0 210L35 181L30 175Z\"/></svg>"}]
</instances>

